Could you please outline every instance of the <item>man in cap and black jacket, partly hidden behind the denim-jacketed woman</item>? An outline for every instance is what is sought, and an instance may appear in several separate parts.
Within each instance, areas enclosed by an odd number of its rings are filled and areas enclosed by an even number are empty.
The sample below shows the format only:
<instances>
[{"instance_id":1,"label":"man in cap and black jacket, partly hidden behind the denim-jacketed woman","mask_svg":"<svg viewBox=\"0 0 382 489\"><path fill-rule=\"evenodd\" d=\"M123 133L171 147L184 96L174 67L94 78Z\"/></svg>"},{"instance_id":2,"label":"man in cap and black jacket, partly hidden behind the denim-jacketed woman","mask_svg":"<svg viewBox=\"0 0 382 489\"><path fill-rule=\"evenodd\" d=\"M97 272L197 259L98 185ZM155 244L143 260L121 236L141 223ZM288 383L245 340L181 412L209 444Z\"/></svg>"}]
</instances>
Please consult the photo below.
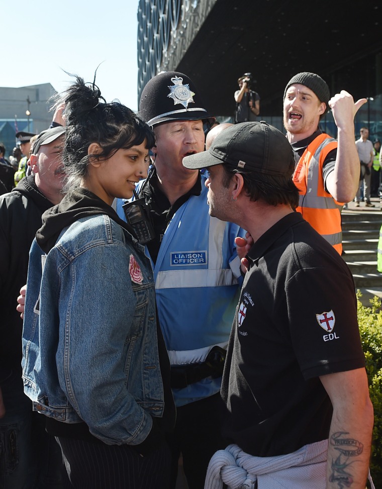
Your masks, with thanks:
<instances>
[{"instance_id":1,"label":"man in cap and black jacket, partly hidden behind the denim-jacketed woman","mask_svg":"<svg viewBox=\"0 0 382 489\"><path fill-rule=\"evenodd\" d=\"M39 487L61 487L61 450L24 394L23 321L16 301L27 283L29 248L41 227L41 216L63 198L64 133L64 127L40 133L32 148L32 174L0 197L0 435L4 442L0 466L5 468L2 481L14 489L30 487L34 481Z\"/></svg>"}]
</instances>

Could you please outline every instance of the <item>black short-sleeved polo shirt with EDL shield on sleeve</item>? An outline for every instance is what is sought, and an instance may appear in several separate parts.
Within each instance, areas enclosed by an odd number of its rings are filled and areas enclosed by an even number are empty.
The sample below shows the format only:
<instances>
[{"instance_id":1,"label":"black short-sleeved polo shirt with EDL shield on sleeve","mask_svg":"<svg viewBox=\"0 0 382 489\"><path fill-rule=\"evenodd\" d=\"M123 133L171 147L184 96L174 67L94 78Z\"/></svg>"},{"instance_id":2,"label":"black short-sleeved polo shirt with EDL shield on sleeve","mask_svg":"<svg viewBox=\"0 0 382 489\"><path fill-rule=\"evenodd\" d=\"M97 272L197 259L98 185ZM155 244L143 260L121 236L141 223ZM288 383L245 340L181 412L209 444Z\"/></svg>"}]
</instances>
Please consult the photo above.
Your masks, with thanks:
<instances>
[{"instance_id":1,"label":"black short-sleeved polo shirt with EDL shield on sleeve","mask_svg":"<svg viewBox=\"0 0 382 489\"><path fill-rule=\"evenodd\" d=\"M319 375L364 366L351 272L299 213L254 243L223 374L224 436L256 456L328 438Z\"/></svg>"}]
</instances>

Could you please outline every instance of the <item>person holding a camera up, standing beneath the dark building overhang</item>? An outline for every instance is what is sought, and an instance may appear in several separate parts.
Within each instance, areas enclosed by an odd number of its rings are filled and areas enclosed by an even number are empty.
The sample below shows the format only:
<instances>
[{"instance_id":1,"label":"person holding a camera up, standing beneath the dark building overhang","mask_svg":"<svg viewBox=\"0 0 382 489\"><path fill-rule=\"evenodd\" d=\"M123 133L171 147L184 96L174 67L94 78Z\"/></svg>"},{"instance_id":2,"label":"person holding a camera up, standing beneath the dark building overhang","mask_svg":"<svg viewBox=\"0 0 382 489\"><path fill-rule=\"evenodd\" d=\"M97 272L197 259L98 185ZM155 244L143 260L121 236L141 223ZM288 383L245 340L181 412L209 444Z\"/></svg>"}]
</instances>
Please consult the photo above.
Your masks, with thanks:
<instances>
[{"instance_id":1,"label":"person holding a camera up, standing beneath the dark building overhang","mask_svg":"<svg viewBox=\"0 0 382 489\"><path fill-rule=\"evenodd\" d=\"M244 73L237 80L239 90L235 91L236 113L235 124L239 122L255 122L260 114L260 95L251 89L253 82L251 73Z\"/></svg>"}]
</instances>

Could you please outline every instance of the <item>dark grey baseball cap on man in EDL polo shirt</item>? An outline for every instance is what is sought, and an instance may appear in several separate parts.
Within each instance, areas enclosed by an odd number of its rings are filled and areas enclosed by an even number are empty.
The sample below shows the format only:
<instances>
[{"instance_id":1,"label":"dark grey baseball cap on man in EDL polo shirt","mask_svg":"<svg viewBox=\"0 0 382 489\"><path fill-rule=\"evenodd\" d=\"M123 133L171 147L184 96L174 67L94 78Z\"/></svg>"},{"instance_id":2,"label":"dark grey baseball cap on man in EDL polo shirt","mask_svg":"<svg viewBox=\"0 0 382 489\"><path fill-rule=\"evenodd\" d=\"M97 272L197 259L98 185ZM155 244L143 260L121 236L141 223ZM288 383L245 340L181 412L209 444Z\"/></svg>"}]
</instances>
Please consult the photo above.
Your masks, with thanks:
<instances>
[{"instance_id":1,"label":"dark grey baseball cap on man in EDL polo shirt","mask_svg":"<svg viewBox=\"0 0 382 489\"><path fill-rule=\"evenodd\" d=\"M294 154L281 131L264 121L242 122L216 136L210 149L183 158L186 168L224 164L229 170L249 170L273 176L291 176Z\"/></svg>"}]
</instances>

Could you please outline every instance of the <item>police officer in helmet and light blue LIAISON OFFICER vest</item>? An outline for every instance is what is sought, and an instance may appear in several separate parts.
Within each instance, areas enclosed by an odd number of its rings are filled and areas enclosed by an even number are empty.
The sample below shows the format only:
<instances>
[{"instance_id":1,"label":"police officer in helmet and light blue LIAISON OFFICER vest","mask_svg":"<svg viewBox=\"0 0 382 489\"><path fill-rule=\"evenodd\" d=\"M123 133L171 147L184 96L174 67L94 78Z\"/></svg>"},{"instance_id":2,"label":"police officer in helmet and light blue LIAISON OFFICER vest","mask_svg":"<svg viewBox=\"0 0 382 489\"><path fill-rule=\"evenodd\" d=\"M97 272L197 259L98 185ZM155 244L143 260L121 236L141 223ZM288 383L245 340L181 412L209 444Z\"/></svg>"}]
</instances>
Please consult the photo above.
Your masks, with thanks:
<instances>
[{"instance_id":1,"label":"police officer in helmet and light blue LIAISON OFFICER vest","mask_svg":"<svg viewBox=\"0 0 382 489\"><path fill-rule=\"evenodd\" d=\"M180 452L188 487L199 489L212 454L225 446L219 392L241 282L234 239L245 233L209 216L206 176L182 165L204 150L204 130L215 121L193 80L159 73L144 87L139 111L155 133L153 168L137 191L151 208L155 237L147 248L177 409L169 489ZM124 218L122 203L117 212Z\"/></svg>"}]
</instances>

